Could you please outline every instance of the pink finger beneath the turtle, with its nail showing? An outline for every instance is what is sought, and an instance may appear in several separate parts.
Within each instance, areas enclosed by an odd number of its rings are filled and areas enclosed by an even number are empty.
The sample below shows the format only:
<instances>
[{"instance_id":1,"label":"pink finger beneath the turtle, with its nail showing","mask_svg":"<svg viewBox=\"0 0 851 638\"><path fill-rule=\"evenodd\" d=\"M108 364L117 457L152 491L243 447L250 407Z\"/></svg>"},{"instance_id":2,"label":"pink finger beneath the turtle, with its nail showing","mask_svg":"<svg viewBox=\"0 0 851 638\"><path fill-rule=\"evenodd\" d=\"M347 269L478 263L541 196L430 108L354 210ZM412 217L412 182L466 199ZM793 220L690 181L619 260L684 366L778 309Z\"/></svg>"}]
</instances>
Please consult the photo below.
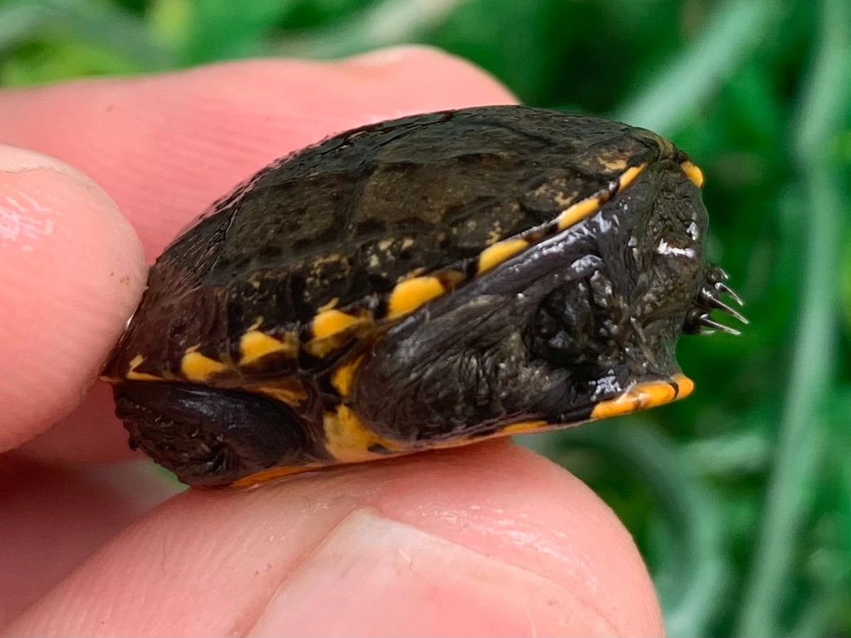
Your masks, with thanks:
<instances>
[{"instance_id":1,"label":"pink finger beneath the turtle, with its nail showing","mask_svg":"<svg viewBox=\"0 0 851 638\"><path fill-rule=\"evenodd\" d=\"M660 635L635 545L580 481L510 445L190 491L10 635Z\"/></svg>"}]
</instances>

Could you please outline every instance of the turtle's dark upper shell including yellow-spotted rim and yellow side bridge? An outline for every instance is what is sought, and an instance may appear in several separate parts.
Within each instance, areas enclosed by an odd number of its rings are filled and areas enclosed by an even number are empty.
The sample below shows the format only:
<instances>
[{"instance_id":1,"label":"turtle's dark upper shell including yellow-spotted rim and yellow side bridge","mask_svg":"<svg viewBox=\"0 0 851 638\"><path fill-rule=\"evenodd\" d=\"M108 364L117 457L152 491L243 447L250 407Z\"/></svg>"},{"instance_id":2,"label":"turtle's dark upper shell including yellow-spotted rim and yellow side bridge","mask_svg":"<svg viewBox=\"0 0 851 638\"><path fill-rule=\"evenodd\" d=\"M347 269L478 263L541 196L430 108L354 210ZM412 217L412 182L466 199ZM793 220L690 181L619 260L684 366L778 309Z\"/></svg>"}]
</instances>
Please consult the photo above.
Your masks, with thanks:
<instances>
[{"instance_id":1,"label":"turtle's dark upper shell including yellow-spotted rim and yellow side bridge","mask_svg":"<svg viewBox=\"0 0 851 638\"><path fill-rule=\"evenodd\" d=\"M168 246L104 376L285 404L317 422L295 445L321 448L318 464L385 452L345 406L369 345L662 159L702 183L648 131L520 106L337 135L262 170Z\"/></svg>"}]
</instances>

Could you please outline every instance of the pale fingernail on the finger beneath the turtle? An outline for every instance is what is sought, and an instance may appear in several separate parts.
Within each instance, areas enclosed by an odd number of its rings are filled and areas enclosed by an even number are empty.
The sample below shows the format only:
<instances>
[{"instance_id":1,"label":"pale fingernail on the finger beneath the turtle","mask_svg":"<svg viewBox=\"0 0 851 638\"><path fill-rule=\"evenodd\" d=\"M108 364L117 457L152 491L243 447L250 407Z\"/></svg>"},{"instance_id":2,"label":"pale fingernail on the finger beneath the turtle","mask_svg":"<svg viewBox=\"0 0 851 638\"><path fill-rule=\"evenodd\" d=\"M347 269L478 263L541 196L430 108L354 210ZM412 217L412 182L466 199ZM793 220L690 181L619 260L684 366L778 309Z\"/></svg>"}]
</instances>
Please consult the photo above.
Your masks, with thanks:
<instances>
[{"instance_id":1,"label":"pale fingernail on the finger beneath the turtle","mask_svg":"<svg viewBox=\"0 0 851 638\"><path fill-rule=\"evenodd\" d=\"M358 510L281 584L253 635L615 635L563 585Z\"/></svg>"}]
</instances>

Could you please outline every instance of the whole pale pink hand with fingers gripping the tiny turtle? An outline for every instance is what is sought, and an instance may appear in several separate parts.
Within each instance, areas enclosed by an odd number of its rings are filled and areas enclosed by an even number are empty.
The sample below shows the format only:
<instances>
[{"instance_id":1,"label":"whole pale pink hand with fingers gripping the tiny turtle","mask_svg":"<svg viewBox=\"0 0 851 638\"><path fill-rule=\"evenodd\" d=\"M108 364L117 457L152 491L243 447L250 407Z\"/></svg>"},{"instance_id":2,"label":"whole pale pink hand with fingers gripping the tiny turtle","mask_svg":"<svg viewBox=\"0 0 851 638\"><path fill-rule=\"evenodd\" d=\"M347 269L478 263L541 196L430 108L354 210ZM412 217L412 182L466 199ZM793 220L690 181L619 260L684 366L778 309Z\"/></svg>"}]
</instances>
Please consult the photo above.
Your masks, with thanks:
<instances>
[{"instance_id":1,"label":"whole pale pink hand with fingers gripping the tiny turtle","mask_svg":"<svg viewBox=\"0 0 851 638\"><path fill-rule=\"evenodd\" d=\"M511 101L428 49L0 93L0 628L662 633L647 570L611 510L509 443L243 492L176 494L144 464L102 464L138 457L109 388L91 384L146 260L189 219L327 134Z\"/></svg>"}]
</instances>

